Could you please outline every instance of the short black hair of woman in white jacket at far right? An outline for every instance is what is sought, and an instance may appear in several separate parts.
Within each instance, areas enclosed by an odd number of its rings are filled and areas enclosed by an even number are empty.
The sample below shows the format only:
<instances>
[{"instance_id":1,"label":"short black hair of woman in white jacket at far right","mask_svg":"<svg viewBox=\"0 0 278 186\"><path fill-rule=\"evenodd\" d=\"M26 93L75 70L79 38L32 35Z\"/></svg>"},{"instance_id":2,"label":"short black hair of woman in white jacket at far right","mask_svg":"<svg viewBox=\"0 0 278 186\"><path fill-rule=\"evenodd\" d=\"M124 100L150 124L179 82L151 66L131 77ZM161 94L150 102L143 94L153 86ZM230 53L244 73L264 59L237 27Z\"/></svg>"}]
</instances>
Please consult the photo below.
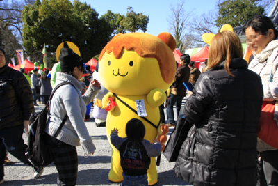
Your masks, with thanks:
<instances>
[{"instance_id":1,"label":"short black hair of woman in white jacket at far right","mask_svg":"<svg viewBox=\"0 0 278 186\"><path fill-rule=\"evenodd\" d=\"M266 17L265 15L256 15L252 17L251 20L248 20L247 23L243 26L243 33L245 33L245 30L250 26L255 32L261 33L262 35L266 35L268 33L268 30L272 29L275 33L275 39L278 36L278 31L275 29L273 22L270 20L269 17Z\"/></svg>"}]
</instances>

